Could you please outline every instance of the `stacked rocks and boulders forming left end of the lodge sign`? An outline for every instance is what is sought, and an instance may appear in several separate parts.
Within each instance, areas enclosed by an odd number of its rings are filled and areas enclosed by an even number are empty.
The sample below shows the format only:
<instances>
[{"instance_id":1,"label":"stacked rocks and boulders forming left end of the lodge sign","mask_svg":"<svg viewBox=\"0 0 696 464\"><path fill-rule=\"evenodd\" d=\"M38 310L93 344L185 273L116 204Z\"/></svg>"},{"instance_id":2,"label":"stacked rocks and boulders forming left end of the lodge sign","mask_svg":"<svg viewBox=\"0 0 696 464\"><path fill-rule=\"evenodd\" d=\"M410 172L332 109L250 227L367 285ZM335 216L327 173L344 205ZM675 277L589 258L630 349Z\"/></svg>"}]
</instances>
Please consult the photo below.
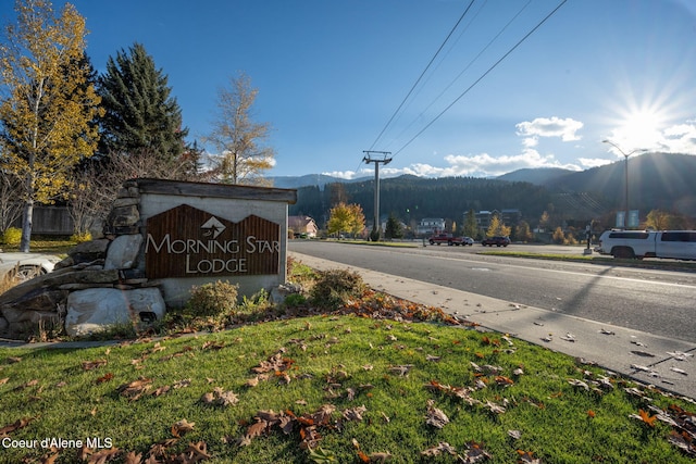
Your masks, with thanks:
<instances>
[{"instance_id":1,"label":"stacked rocks and boulders forming left end of the lodge sign","mask_svg":"<svg viewBox=\"0 0 696 464\"><path fill-rule=\"evenodd\" d=\"M161 318L159 287L139 263L142 234L137 181L124 184L104 224L104 238L79 243L52 273L22 283L0 296L0 337L25 337L44 327L70 336L113 324Z\"/></svg>"}]
</instances>

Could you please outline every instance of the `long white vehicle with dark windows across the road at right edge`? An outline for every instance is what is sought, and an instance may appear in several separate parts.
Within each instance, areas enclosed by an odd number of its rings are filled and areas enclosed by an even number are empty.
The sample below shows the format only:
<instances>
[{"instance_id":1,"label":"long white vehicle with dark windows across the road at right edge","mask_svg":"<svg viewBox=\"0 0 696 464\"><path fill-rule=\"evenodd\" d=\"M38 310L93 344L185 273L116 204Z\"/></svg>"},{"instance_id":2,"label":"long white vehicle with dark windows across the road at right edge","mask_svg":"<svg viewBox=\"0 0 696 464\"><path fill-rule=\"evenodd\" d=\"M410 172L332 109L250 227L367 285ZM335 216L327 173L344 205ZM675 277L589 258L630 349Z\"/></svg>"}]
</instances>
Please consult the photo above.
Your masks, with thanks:
<instances>
[{"instance_id":1,"label":"long white vehicle with dark windows across the road at right edge","mask_svg":"<svg viewBox=\"0 0 696 464\"><path fill-rule=\"evenodd\" d=\"M696 260L696 230L607 230L596 250L614 258Z\"/></svg>"}]
</instances>

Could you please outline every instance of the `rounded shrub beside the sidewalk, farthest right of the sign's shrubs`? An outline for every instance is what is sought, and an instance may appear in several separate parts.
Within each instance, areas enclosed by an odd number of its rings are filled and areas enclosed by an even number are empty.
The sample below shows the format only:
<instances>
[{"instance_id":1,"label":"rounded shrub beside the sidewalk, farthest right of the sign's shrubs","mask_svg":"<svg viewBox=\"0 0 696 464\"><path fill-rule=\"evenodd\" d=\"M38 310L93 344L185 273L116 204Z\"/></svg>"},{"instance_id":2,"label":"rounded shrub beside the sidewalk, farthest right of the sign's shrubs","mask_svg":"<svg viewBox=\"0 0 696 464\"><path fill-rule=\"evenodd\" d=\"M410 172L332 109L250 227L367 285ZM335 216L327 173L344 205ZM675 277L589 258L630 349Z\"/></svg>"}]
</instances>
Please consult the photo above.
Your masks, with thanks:
<instances>
[{"instance_id":1,"label":"rounded shrub beside the sidewalk, farthest right of the sign's shrubs","mask_svg":"<svg viewBox=\"0 0 696 464\"><path fill-rule=\"evenodd\" d=\"M365 290L366 286L358 273L330 269L318 274L310 296L318 306L337 309L352 299L361 298Z\"/></svg>"}]
</instances>

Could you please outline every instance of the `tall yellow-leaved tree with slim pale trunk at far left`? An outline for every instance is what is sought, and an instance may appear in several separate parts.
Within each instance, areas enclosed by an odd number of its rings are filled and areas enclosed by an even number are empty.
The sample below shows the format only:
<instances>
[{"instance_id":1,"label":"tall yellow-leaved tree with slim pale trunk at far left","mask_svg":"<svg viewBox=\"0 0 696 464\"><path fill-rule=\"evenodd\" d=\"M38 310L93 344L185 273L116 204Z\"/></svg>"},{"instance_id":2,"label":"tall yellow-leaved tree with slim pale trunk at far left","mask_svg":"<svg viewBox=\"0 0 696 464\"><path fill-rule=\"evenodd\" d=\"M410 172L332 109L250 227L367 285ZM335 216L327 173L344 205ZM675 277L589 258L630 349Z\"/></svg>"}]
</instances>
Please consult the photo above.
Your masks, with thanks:
<instances>
[{"instance_id":1,"label":"tall yellow-leaved tree with slim pale trunk at far left","mask_svg":"<svg viewBox=\"0 0 696 464\"><path fill-rule=\"evenodd\" d=\"M85 18L65 3L16 0L0 43L0 168L22 180L21 251L29 251L34 203L52 203L73 167L94 154L100 98L85 55Z\"/></svg>"}]
</instances>

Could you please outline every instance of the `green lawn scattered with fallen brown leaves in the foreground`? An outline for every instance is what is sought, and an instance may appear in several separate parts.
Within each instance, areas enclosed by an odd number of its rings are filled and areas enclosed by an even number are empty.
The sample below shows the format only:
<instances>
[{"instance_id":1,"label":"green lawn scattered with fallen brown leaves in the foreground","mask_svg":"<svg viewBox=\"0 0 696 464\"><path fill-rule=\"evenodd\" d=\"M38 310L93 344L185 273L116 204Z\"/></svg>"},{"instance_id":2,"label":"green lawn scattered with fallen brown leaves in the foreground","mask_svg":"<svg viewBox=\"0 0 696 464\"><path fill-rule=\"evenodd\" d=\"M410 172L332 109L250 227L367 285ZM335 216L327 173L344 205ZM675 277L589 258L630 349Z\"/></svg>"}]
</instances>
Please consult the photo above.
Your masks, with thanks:
<instances>
[{"instance_id":1,"label":"green lawn scattered with fallen brown leaves in the foreground","mask_svg":"<svg viewBox=\"0 0 696 464\"><path fill-rule=\"evenodd\" d=\"M45 438L99 438L92 462L694 462L668 441L692 402L606 376L500 334L360 315L0 349L0 462L82 462L18 448Z\"/></svg>"}]
</instances>

